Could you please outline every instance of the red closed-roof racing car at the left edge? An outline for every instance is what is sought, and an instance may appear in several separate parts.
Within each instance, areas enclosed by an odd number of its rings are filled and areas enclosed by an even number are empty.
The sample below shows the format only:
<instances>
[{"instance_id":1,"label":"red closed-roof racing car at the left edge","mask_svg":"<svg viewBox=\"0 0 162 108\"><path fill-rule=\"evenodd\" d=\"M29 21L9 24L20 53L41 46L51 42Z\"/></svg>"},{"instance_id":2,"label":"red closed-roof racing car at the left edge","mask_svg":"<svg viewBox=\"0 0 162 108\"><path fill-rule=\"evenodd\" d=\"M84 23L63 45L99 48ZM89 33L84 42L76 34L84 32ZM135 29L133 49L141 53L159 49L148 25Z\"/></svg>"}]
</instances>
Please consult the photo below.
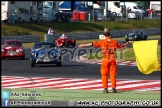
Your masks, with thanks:
<instances>
[{"instance_id":1,"label":"red closed-roof racing car at the left edge","mask_svg":"<svg viewBox=\"0 0 162 108\"><path fill-rule=\"evenodd\" d=\"M5 40L1 46L1 59L15 57L25 59L25 48L21 40Z\"/></svg>"}]
</instances>

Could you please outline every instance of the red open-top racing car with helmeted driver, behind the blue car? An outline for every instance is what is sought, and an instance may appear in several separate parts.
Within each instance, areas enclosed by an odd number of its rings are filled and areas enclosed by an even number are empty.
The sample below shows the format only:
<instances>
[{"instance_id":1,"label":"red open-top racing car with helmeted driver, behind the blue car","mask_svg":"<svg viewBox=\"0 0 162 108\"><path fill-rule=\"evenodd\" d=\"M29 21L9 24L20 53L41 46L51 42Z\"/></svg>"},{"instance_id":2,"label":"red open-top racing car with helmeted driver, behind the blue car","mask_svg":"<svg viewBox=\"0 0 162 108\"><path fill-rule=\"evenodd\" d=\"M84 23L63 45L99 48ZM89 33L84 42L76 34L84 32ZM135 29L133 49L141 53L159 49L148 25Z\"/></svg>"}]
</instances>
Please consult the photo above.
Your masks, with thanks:
<instances>
[{"instance_id":1,"label":"red open-top racing car with helmeted driver, behind the blue car","mask_svg":"<svg viewBox=\"0 0 162 108\"><path fill-rule=\"evenodd\" d=\"M76 41L75 39L71 39L67 34L63 34L57 40L55 40L56 44L60 47L62 46L73 46L75 47Z\"/></svg>"}]
</instances>

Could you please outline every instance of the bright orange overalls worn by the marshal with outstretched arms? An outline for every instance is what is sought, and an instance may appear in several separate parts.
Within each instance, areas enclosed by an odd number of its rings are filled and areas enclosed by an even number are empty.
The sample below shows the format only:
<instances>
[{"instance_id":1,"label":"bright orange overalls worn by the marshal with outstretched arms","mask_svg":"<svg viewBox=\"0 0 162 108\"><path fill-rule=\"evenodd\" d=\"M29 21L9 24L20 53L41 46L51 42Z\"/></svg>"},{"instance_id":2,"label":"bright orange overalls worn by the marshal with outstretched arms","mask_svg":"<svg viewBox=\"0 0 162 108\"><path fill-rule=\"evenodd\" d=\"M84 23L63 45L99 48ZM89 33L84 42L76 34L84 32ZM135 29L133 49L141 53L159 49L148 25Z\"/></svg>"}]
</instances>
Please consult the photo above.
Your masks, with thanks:
<instances>
[{"instance_id":1,"label":"bright orange overalls worn by the marshal with outstretched arms","mask_svg":"<svg viewBox=\"0 0 162 108\"><path fill-rule=\"evenodd\" d=\"M116 48L123 48L123 44L119 44L116 40L112 40L110 37L106 37L105 40L99 42L93 42L94 47L100 47L102 50L102 65L101 65L101 75L102 75L102 85L103 88L108 88L108 73L110 72L110 81L112 88L116 88L116 60L115 60L115 50Z\"/></svg>"}]
</instances>

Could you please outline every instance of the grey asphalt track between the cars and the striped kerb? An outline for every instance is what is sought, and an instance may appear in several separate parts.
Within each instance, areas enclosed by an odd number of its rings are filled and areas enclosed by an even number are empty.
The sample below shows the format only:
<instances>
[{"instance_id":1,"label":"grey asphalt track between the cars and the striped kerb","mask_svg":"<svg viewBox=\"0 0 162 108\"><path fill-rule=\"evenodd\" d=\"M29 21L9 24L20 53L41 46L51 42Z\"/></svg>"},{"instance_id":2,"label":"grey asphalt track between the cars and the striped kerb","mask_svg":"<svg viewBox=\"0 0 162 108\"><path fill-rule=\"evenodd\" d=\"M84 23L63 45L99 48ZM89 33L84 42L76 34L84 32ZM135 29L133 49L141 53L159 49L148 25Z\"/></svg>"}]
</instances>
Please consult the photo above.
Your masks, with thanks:
<instances>
[{"instance_id":1,"label":"grey asphalt track between the cars and the striped kerb","mask_svg":"<svg viewBox=\"0 0 162 108\"><path fill-rule=\"evenodd\" d=\"M159 39L161 44L161 40ZM132 47L132 45L128 45ZM92 47L84 48L84 51L92 50ZM74 51L75 50L75 51ZM81 49L75 48L62 48L63 58L62 67L55 65L36 65L30 67L30 49L26 49L25 60L5 59L2 60L2 76L28 76L28 77L66 77L66 78L97 78L100 79L100 65L98 64L85 64L78 63L72 59L75 56L81 55ZM82 52L84 52L82 50ZM75 54L71 52L75 52ZM95 51L93 49L93 51ZM66 54L65 54L66 52ZM81 51L80 51L81 53ZM88 53L88 52L86 52ZM161 79L161 71L154 72L149 75L142 74L136 66L117 66L118 74L117 79Z\"/></svg>"}]
</instances>

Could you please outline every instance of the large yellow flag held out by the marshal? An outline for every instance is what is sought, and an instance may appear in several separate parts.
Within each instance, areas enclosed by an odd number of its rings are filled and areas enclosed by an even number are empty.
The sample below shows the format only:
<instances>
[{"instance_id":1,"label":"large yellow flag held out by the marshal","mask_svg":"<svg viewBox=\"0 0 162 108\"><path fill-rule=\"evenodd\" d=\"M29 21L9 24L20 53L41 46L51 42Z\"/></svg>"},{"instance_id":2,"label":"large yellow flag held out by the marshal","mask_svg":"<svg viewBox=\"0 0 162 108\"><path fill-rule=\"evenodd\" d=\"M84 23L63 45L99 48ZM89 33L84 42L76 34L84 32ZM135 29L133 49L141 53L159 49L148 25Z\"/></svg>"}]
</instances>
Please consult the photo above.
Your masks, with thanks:
<instances>
[{"instance_id":1,"label":"large yellow flag held out by the marshal","mask_svg":"<svg viewBox=\"0 0 162 108\"><path fill-rule=\"evenodd\" d=\"M161 70L157 56L158 40L136 41L133 49L137 67L143 74Z\"/></svg>"}]
</instances>

